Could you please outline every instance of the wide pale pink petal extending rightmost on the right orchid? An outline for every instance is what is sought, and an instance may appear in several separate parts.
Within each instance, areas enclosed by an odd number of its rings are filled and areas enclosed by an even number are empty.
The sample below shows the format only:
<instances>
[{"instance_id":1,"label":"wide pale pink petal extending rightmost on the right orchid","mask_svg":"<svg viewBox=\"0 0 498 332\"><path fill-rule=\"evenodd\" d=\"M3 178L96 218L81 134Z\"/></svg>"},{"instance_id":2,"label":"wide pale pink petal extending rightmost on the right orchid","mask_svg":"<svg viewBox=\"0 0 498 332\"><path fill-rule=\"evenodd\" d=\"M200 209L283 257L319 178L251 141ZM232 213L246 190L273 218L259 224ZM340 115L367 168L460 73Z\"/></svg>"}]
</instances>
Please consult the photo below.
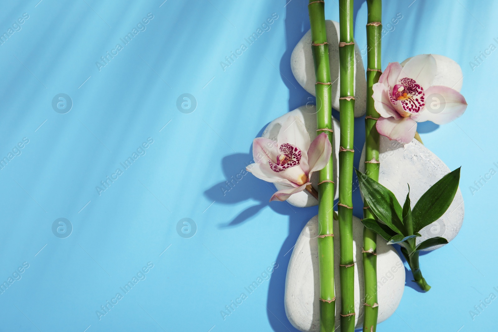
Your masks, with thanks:
<instances>
[{"instance_id":1,"label":"wide pale pink petal extending rightmost on the right orchid","mask_svg":"<svg viewBox=\"0 0 498 332\"><path fill-rule=\"evenodd\" d=\"M425 92L425 110L412 116L417 122L432 121L437 124L451 122L467 109L464 96L442 85L434 85Z\"/></svg>"}]
</instances>

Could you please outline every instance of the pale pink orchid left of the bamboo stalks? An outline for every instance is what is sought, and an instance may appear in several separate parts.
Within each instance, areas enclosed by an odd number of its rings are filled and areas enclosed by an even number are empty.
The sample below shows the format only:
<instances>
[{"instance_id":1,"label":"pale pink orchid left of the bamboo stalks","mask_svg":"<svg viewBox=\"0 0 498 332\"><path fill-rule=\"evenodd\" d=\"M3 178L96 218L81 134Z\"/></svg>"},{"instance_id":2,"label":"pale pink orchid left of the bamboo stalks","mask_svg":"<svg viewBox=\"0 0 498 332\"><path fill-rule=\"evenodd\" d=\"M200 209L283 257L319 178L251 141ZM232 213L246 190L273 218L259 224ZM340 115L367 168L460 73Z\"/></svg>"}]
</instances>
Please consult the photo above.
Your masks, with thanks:
<instances>
[{"instance_id":1,"label":"pale pink orchid left of the bamboo stalks","mask_svg":"<svg viewBox=\"0 0 498 332\"><path fill-rule=\"evenodd\" d=\"M311 174L327 165L332 147L327 134L319 134L311 143L304 124L289 116L278 132L277 141L257 137L252 142L255 163L247 170L266 182L287 187L271 196L271 201L285 201L292 194L311 188ZM311 189L310 189L311 190Z\"/></svg>"}]
</instances>

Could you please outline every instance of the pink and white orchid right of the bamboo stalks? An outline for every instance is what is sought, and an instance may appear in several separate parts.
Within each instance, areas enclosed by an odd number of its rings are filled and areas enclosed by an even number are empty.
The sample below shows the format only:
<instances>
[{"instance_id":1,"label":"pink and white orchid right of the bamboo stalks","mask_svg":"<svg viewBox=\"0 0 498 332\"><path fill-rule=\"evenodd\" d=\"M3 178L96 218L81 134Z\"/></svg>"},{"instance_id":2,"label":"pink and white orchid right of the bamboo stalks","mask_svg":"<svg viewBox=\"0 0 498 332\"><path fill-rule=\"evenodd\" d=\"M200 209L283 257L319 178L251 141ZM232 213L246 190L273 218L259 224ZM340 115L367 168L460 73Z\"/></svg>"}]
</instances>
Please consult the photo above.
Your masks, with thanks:
<instances>
[{"instance_id":1,"label":"pink and white orchid right of the bamboo stalks","mask_svg":"<svg viewBox=\"0 0 498 332\"><path fill-rule=\"evenodd\" d=\"M404 67L389 63L373 85L374 107L381 116L376 127L381 135L409 143L417 122L445 124L465 112L465 98L450 87L432 85L435 76L436 60L430 54L414 56Z\"/></svg>"}]
</instances>

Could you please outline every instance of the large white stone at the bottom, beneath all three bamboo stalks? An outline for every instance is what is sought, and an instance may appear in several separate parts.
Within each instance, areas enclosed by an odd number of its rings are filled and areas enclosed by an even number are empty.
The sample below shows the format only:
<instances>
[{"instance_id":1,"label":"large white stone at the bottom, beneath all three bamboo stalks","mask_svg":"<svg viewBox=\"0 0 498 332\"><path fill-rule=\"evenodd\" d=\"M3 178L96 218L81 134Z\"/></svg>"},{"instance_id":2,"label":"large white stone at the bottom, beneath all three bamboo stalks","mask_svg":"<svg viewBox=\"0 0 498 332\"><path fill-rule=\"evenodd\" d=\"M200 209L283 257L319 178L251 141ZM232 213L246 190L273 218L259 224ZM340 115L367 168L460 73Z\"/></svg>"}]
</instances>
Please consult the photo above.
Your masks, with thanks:
<instances>
[{"instance_id":1,"label":"large white stone at the bottom, beneath all three bamboo stalks","mask_svg":"<svg viewBox=\"0 0 498 332\"><path fill-rule=\"evenodd\" d=\"M334 221L334 275L336 295L336 327L340 321L341 292L339 284L338 221ZM318 216L313 217L301 231L289 261L285 279L284 305L290 323L300 331L320 331L320 280L318 269ZM380 238L380 236L378 236ZM353 251L355 257L355 322L363 324L364 293L362 244L363 224L353 217ZM389 318L401 301L405 285L405 269L391 245L377 241L378 323ZM336 330L340 331L340 330Z\"/></svg>"}]
</instances>

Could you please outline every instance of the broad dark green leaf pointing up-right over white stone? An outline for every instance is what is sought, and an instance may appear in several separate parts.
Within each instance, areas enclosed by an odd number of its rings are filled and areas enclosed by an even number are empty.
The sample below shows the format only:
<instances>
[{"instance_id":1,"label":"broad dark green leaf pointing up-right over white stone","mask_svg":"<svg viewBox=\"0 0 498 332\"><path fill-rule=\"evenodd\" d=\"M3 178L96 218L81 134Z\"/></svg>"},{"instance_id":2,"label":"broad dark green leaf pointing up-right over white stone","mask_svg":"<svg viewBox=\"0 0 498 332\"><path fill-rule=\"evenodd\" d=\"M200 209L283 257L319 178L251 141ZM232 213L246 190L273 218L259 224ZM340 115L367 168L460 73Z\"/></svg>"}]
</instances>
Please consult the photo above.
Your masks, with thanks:
<instances>
[{"instance_id":1,"label":"broad dark green leaf pointing up-right over white stone","mask_svg":"<svg viewBox=\"0 0 498 332\"><path fill-rule=\"evenodd\" d=\"M460 168L446 174L420 197L412 211L414 231L438 220L448 210L457 193Z\"/></svg>"}]
</instances>

